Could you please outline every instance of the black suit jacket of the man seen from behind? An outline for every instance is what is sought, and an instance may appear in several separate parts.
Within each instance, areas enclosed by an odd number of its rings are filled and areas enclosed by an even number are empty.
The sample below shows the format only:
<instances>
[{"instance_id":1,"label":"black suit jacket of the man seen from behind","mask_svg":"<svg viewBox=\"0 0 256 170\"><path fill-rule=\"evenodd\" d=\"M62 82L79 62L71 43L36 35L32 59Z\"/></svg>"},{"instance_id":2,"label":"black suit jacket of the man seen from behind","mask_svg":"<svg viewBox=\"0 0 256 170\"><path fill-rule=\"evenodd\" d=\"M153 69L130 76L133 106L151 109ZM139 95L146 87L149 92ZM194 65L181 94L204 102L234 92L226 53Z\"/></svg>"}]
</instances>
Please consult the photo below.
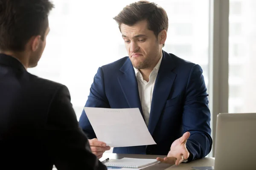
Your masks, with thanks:
<instances>
[{"instance_id":1,"label":"black suit jacket of the man seen from behind","mask_svg":"<svg viewBox=\"0 0 256 170\"><path fill-rule=\"evenodd\" d=\"M66 86L0 54L0 169L105 170L79 128Z\"/></svg>"}]
</instances>

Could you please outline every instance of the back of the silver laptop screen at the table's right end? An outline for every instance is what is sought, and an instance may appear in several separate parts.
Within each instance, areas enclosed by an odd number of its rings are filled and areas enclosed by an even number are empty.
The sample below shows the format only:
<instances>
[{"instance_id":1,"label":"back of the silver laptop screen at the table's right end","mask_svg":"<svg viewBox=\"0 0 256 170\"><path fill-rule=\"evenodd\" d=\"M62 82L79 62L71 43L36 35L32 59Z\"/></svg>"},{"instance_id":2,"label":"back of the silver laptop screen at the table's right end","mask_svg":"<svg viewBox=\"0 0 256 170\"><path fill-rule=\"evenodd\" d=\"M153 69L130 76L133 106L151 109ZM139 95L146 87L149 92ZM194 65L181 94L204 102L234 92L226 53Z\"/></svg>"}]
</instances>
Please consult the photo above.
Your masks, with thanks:
<instances>
[{"instance_id":1,"label":"back of the silver laptop screen at the table's right end","mask_svg":"<svg viewBox=\"0 0 256 170\"><path fill-rule=\"evenodd\" d=\"M256 113L219 113L215 170L256 170Z\"/></svg>"}]
</instances>

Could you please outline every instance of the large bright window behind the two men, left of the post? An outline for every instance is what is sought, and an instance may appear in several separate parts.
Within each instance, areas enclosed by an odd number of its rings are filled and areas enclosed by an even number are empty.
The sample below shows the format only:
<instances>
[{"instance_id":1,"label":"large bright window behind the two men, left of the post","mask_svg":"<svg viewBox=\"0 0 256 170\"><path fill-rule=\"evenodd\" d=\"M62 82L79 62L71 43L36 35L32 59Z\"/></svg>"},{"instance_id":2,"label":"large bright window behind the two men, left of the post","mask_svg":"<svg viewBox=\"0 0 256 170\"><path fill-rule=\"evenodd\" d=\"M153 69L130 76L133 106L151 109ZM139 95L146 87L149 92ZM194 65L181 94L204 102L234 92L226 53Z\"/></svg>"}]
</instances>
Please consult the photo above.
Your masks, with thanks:
<instances>
[{"instance_id":1,"label":"large bright window behind the two men, left of the post","mask_svg":"<svg viewBox=\"0 0 256 170\"><path fill-rule=\"evenodd\" d=\"M29 72L66 85L79 119L97 69L127 56L113 20L134 0L53 0L47 46ZM208 86L209 0L159 0L169 17L166 46L178 57L201 65Z\"/></svg>"}]
</instances>

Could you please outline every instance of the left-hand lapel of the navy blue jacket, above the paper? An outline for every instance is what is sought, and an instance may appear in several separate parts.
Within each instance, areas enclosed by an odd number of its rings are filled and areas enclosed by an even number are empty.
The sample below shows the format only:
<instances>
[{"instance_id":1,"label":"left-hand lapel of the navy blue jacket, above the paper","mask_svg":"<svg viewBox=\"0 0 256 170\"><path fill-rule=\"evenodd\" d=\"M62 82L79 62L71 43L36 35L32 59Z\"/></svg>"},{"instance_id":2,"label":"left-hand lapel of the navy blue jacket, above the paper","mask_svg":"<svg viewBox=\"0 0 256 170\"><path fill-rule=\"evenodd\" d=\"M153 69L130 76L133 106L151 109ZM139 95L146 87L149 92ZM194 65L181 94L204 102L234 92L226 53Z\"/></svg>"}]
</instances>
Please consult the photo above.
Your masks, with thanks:
<instances>
[{"instance_id":1,"label":"left-hand lapel of the navy blue jacket, above the paper","mask_svg":"<svg viewBox=\"0 0 256 170\"><path fill-rule=\"evenodd\" d=\"M140 109L140 113L142 114L144 119L141 102L140 102L138 83L135 76L134 68L129 58L126 60L124 65L120 68L120 71L123 72L123 74L118 77L118 81L121 86L122 92L125 95L125 99L127 100L130 108Z\"/></svg>"}]
</instances>

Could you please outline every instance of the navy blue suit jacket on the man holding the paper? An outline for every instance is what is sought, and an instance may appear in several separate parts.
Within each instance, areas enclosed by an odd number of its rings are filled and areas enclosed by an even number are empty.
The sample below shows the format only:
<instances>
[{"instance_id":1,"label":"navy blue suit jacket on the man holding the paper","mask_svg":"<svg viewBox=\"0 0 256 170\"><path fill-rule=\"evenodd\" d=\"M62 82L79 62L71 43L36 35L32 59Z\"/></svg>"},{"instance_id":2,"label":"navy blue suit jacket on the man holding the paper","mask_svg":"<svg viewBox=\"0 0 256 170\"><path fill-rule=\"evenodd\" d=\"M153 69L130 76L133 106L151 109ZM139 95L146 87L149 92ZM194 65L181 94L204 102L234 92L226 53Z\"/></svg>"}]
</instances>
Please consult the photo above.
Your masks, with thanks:
<instances>
[{"instance_id":1,"label":"navy blue suit jacket on the man holding the paper","mask_svg":"<svg viewBox=\"0 0 256 170\"><path fill-rule=\"evenodd\" d=\"M202 72L199 65L163 51L148 125L157 144L116 147L113 153L167 155L172 142L189 131L191 136L186 143L189 161L207 156L212 138L208 94ZM85 107L139 108L143 115L137 79L128 57L98 69ZM96 138L84 111L79 125L89 139Z\"/></svg>"}]
</instances>

